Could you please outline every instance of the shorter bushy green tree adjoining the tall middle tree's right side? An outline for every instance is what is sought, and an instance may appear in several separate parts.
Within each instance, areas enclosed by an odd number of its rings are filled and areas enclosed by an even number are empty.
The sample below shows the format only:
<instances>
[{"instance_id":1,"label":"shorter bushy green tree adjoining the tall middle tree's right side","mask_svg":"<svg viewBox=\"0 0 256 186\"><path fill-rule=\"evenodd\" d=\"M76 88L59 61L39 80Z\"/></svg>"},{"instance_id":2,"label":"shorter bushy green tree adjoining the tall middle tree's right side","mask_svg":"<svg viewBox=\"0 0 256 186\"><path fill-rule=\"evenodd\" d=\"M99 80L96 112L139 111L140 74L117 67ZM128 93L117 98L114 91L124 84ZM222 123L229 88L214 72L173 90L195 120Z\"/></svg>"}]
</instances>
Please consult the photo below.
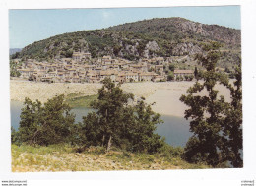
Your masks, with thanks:
<instances>
[{"instance_id":1,"label":"shorter bushy green tree adjoining the tall middle tree's right side","mask_svg":"<svg viewBox=\"0 0 256 186\"><path fill-rule=\"evenodd\" d=\"M124 136L129 141L131 151L156 153L164 145L160 135L154 133L156 125L162 123L162 120L160 120L160 114L152 110L152 104L146 104L144 101L145 98L141 97L134 110L130 110L133 117L126 123ZM129 115L127 116L125 118L129 118Z\"/></svg>"}]
</instances>

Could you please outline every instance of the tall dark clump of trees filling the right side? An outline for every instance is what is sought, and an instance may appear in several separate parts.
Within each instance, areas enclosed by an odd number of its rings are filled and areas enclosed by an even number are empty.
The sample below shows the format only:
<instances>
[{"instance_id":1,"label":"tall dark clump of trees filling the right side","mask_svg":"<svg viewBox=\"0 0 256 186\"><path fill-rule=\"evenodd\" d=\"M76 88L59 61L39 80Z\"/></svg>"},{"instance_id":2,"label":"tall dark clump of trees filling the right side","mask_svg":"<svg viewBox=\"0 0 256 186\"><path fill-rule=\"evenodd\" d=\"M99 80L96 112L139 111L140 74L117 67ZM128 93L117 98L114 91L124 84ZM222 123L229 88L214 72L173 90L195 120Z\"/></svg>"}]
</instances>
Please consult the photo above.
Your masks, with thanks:
<instances>
[{"instance_id":1,"label":"tall dark clump of trees filling the right side","mask_svg":"<svg viewBox=\"0 0 256 186\"><path fill-rule=\"evenodd\" d=\"M193 136L187 142L184 157L189 162L204 161L213 166L229 161L234 167L242 167L242 104L241 71L237 69L236 82L232 86L224 74L215 71L220 58L219 45L213 43L205 48L206 53L197 59L206 71L200 72L193 87L180 100L189 109L185 118L191 118ZM229 89L231 103L215 89L217 84ZM207 95L201 92L206 91ZM201 93L201 94L200 94Z\"/></svg>"}]
</instances>

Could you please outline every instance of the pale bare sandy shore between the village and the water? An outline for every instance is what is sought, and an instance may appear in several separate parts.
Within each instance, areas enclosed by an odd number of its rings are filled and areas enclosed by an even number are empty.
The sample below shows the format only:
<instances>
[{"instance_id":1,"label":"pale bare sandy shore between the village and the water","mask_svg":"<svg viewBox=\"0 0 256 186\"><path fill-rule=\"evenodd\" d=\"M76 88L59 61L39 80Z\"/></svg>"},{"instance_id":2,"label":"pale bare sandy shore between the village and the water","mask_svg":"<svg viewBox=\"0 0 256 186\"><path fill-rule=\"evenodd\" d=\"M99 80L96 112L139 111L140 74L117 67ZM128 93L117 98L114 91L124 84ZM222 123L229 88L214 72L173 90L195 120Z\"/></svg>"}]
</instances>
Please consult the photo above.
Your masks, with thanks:
<instances>
[{"instance_id":1,"label":"pale bare sandy shore between the village and the water","mask_svg":"<svg viewBox=\"0 0 256 186\"><path fill-rule=\"evenodd\" d=\"M187 107L179 101L179 98L193 84L194 82L143 82L123 84L122 89L125 93L133 93L136 97L144 96L148 103L156 102L153 105L153 110L160 114L183 117ZM25 97L29 97L33 101L38 99L45 102L48 98L58 94L93 95L101 86L101 84L47 84L11 80L10 94L11 100L24 101ZM228 90L220 85L217 86L217 89L229 101Z\"/></svg>"}]
</instances>

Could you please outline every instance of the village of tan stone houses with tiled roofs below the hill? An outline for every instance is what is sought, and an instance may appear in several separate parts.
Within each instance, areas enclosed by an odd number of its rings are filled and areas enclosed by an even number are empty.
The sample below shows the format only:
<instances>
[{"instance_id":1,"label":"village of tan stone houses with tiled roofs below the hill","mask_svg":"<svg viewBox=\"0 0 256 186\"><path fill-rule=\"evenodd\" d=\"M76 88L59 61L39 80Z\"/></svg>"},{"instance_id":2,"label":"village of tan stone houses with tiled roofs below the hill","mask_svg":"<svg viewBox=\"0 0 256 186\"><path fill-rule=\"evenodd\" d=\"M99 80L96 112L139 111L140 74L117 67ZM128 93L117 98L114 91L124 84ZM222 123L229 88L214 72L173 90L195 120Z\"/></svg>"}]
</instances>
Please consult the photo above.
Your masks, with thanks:
<instances>
[{"instance_id":1,"label":"village of tan stone houses with tiled roofs below the hill","mask_svg":"<svg viewBox=\"0 0 256 186\"><path fill-rule=\"evenodd\" d=\"M170 62L171 59L163 57L144 58L138 62L111 56L92 59L89 52L74 52L72 58L55 58L52 62L13 61L20 79L48 83L100 83L105 78L117 83L162 82L168 80L164 66ZM172 80L192 80L193 77L193 70L174 70Z\"/></svg>"}]
</instances>

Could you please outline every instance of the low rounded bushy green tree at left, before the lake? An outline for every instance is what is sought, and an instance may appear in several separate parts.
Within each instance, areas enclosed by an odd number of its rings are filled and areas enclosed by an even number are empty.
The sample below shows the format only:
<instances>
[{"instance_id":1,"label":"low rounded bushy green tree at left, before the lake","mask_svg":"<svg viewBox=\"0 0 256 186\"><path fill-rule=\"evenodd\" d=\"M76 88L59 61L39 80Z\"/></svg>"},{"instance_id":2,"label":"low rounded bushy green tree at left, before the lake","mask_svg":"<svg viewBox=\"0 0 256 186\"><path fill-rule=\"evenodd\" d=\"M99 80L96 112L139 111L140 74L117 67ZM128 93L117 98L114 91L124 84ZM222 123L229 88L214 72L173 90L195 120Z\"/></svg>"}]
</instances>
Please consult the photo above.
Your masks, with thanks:
<instances>
[{"instance_id":1,"label":"low rounded bushy green tree at left, before the lake","mask_svg":"<svg viewBox=\"0 0 256 186\"><path fill-rule=\"evenodd\" d=\"M55 96L42 106L36 100L25 99L19 135L21 142L31 145L50 145L70 142L75 115L64 103L64 95Z\"/></svg>"}]
</instances>

